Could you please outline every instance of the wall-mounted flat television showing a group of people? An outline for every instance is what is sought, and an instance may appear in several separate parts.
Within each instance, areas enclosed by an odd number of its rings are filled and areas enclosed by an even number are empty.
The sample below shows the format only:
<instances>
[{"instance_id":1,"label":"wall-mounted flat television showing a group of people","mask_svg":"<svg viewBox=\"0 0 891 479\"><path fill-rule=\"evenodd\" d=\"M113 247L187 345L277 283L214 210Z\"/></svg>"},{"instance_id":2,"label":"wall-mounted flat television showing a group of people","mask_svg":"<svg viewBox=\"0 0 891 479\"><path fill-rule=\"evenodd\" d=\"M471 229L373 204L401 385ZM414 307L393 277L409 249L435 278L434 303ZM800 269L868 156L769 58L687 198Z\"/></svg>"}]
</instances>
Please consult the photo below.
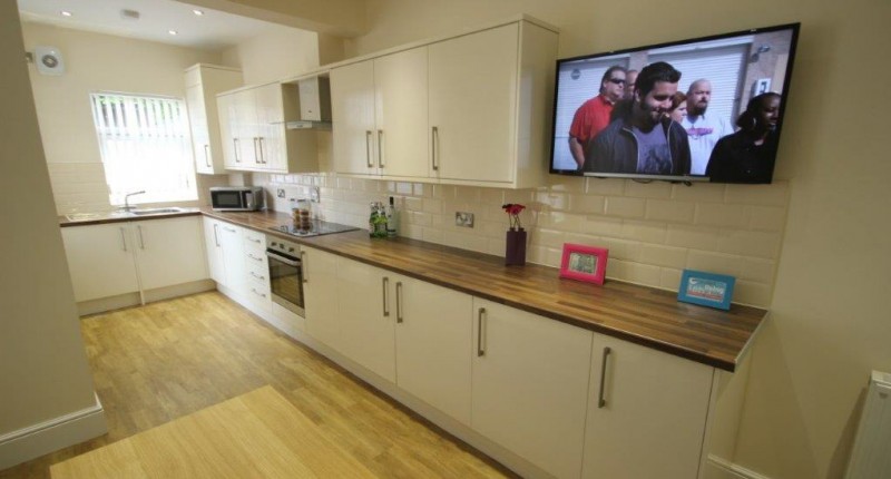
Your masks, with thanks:
<instances>
[{"instance_id":1,"label":"wall-mounted flat television showing a group of people","mask_svg":"<svg viewBox=\"0 0 891 479\"><path fill-rule=\"evenodd\" d=\"M558 60L550 172L771 183L799 27Z\"/></svg>"}]
</instances>

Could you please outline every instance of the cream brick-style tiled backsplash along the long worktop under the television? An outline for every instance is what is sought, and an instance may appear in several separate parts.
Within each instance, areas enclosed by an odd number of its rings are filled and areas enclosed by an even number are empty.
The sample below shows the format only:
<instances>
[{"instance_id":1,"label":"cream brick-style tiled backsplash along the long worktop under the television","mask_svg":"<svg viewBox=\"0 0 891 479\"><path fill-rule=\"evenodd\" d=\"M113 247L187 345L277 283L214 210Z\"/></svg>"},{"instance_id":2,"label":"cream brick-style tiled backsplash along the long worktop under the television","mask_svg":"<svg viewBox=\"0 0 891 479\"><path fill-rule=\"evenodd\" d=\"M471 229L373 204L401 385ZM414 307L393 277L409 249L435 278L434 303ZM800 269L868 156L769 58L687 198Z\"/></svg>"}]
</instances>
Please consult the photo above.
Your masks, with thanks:
<instances>
[{"instance_id":1,"label":"cream brick-style tiled backsplash along the long worktop under the television","mask_svg":"<svg viewBox=\"0 0 891 479\"><path fill-rule=\"evenodd\" d=\"M734 301L767 306L785 227L789 183L712 185L550 177L536 189L499 189L335 175L254 175L282 212L317 186L316 214L368 227L369 203L395 197L400 236L493 255L505 254L505 203L528 208L527 261L558 267L564 243L609 248L608 278L677 291L684 268L736 277ZM276 197L283 189L284 198ZM473 228L454 225L456 212Z\"/></svg>"}]
</instances>

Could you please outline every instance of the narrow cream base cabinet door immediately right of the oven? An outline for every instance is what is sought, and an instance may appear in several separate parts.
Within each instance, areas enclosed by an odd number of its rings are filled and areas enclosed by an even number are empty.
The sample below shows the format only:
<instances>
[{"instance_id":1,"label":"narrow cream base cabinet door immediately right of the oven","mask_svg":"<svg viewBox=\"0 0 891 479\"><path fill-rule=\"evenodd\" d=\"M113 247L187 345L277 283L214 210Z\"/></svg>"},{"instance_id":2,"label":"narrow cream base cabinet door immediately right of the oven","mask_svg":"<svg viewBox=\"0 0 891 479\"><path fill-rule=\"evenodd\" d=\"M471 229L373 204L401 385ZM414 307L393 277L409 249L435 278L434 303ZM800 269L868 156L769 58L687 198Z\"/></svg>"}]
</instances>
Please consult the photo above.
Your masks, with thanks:
<instances>
[{"instance_id":1,"label":"narrow cream base cabinet door immediately right of the oven","mask_svg":"<svg viewBox=\"0 0 891 479\"><path fill-rule=\"evenodd\" d=\"M341 350L337 320L337 256L306 246L301 246L301 253L306 333L329 348Z\"/></svg>"}]
</instances>

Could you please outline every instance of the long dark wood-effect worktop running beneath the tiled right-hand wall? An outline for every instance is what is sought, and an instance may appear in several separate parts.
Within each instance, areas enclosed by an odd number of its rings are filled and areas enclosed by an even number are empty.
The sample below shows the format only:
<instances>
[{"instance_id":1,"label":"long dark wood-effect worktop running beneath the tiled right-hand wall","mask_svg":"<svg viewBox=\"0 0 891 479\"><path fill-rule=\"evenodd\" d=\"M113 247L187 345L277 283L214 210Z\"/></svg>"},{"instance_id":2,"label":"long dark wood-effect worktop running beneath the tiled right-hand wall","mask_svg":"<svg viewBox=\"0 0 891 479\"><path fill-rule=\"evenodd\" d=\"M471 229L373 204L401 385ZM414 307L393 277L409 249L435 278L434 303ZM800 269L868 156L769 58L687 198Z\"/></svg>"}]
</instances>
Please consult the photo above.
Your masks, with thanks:
<instances>
[{"instance_id":1,"label":"long dark wood-effect worktop running beneath the tiled right-hand wall","mask_svg":"<svg viewBox=\"0 0 891 479\"><path fill-rule=\"evenodd\" d=\"M433 243L370 238L368 231L298 238L270 228L291 221L275 212L205 215L286 237L405 276L461 291L598 333L734 371L767 312L734 304L718 311L679 303L677 293L618 281L603 286L561 280L559 270L505 266L500 256Z\"/></svg>"}]
</instances>

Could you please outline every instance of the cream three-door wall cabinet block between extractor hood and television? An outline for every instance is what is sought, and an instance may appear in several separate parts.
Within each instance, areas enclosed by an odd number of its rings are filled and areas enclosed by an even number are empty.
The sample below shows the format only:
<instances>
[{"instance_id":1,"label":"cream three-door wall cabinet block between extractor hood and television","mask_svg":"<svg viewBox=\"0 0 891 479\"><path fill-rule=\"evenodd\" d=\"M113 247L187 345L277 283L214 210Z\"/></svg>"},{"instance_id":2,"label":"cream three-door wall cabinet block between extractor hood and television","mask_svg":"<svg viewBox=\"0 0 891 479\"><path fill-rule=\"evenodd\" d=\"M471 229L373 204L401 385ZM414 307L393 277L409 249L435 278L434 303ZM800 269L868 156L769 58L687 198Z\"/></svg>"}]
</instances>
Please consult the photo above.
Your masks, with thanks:
<instances>
[{"instance_id":1,"label":"cream three-door wall cabinet block between extractor hood and television","mask_svg":"<svg viewBox=\"0 0 891 479\"><path fill-rule=\"evenodd\" d=\"M556 30L525 18L332 69L335 172L541 185L556 58Z\"/></svg>"}]
</instances>

